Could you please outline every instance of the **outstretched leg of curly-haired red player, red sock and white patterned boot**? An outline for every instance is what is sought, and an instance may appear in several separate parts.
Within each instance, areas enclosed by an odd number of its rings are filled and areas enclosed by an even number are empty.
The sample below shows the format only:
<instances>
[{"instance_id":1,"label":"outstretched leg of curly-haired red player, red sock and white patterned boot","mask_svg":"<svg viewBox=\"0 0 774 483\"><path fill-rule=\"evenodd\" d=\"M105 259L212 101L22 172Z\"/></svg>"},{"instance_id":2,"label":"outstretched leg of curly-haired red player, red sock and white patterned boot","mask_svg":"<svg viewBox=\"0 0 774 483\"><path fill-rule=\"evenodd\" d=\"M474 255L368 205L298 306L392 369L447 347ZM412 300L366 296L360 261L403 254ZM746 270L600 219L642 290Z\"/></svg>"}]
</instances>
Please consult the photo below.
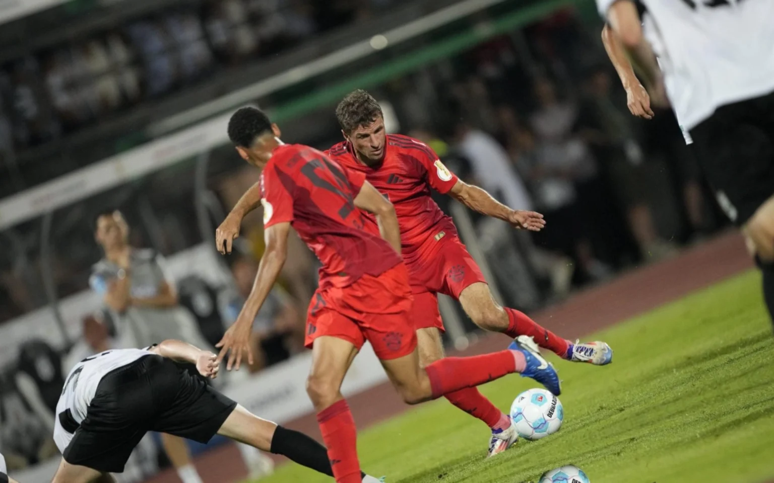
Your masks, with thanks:
<instances>
[{"instance_id":1,"label":"outstretched leg of curly-haired red player, red sock and white patterned boot","mask_svg":"<svg viewBox=\"0 0 774 483\"><path fill-rule=\"evenodd\" d=\"M604 342L575 342L561 338L541 327L526 314L513 308L502 308L492 297L488 284L476 282L460 293L462 308L475 325L491 332L502 332L509 337L529 335L545 349L563 359L591 362L603 366L611 362L613 351Z\"/></svg>"}]
</instances>

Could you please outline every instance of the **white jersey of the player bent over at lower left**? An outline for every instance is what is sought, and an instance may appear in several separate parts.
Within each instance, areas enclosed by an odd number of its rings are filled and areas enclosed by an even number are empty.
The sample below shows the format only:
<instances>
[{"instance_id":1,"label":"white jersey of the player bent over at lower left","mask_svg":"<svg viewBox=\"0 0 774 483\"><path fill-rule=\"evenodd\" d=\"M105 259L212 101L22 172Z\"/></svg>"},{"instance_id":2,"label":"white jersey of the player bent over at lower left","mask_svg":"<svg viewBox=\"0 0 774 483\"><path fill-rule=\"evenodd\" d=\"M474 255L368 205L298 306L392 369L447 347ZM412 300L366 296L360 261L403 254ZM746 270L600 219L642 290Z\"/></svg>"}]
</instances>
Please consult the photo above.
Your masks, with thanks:
<instances>
[{"instance_id":1,"label":"white jersey of the player bent over at lower left","mask_svg":"<svg viewBox=\"0 0 774 483\"><path fill-rule=\"evenodd\" d=\"M53 430L53 439L57 443L59 451L64 452L64 449L73 438L73 434L62 427L60 415L69 410L75 422L80 424L86 417L89 404L94 399L94 394L97 393L97 386L102 378L107 376L109 372L127 366L141 357L152 355L149 349L150 347L146 349L114 349L100 352L78 362L70 370L70 374L64 383L62 395L57 403L57 417Z\"/></svg>"}]
</instances>

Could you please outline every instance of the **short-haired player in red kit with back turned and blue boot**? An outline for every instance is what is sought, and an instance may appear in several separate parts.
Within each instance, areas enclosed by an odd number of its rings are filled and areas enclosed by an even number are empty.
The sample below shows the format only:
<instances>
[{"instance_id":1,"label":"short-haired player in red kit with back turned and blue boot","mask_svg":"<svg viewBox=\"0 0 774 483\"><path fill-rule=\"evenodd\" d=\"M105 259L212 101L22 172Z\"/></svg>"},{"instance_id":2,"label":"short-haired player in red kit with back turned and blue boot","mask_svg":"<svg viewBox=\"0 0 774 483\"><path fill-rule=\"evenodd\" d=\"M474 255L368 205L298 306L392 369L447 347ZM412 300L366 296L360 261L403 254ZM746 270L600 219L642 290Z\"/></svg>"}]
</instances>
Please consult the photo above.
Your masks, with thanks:
<instances>
[{"instance_id":1,"label":"short-haired player in red kit with back turned and blue boot","mask_svg":"<svg viewBox=\"0 0 774 483\"><path fill-rule=\"evenodd\" d=\"M228 136L242 158L262 169L266 248L248 300L217 344L227 369L239 368L249 348L252 322L279 275L291 226L320 259L320 284L307 316L312 367L307 392L317 410L320 433L339 483L361 481L354 421L341 382L366 340L390 381L409 404L436 399L512 372L532 377L560 393L556 371L539 355L532 338L492 354L440 359L420 367L409 274L402 263L398 219L387 201L355 170L345 171L322 152L284 145L279 128L252 107L237 111ZM375 216L370 228L360 210ZM381 235L381 236L380 236ZM219 248L226 252L231 240Z\"/></svg>"}]
</instances>

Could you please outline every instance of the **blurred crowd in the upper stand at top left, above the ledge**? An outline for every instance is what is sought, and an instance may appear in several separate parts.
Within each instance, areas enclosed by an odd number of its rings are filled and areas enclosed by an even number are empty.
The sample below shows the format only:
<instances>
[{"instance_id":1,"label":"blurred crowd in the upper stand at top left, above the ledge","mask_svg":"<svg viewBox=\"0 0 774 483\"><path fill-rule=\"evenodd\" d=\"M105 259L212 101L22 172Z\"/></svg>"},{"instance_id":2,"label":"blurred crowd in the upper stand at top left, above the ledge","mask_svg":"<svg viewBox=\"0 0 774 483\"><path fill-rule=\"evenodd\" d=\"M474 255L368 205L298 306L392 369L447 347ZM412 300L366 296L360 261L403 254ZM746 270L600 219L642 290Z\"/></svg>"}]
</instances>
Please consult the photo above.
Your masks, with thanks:
<instances>
[{"instance_id":1,"label":"blurred crowd in the upper stand at top left, above the ledge","mask_svg":"<svg viewBox=\"0 0 774 483\"><path fill-rule=\"evenodd\" d=\"M0 151L77 131L398 1L187 2L4 63L0 58Z\"/></svg>"}]
</instances>

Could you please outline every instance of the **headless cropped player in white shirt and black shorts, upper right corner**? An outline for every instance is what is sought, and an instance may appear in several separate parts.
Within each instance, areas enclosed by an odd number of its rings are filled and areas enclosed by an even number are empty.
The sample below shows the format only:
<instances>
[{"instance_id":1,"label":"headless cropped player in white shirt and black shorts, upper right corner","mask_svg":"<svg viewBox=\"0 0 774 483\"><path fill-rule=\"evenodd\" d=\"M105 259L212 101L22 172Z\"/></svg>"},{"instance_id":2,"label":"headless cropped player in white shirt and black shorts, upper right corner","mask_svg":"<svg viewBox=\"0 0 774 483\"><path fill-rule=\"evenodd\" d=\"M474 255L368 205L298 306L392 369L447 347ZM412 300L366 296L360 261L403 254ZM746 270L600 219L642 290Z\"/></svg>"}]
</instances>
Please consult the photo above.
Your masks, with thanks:
<instances>
[{"instance_id":1,"label":"headless cropped player in white shirt and black shorts, upper right corner","mask_svg":"<svg viewBox=\"0 0 774 483\"><path fill-rule=\"evenodd\" d=\"M632 114L666 92L728 217L763 273L774 319L774 1L597 0ZM656 58L658 59L656 61Z\"/></svg>"}]
</instances>

